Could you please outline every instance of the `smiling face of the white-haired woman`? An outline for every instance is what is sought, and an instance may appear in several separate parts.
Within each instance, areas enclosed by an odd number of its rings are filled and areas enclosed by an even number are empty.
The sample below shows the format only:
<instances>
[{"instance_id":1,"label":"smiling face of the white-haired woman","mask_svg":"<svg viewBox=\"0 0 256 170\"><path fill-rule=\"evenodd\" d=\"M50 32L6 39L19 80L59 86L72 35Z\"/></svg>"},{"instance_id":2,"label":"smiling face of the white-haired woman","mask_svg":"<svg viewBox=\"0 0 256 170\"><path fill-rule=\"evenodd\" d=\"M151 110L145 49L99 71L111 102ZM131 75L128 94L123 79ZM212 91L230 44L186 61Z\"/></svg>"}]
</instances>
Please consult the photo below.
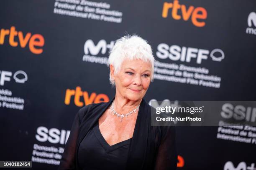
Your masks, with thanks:
<instances>
[{"instance_id":1,"label":"smiling face of the white-haired woman","mask_svg":"<svg viewBox=\"0 0 256 170\"><path fill-rule=\"evenodd\" d=\"M117 94L133 101L144 97L151 82L151 63L140 59L125 59L116 75L113 74L113 65L110 65L110 71Z\"/></svg>"}]
</instances>

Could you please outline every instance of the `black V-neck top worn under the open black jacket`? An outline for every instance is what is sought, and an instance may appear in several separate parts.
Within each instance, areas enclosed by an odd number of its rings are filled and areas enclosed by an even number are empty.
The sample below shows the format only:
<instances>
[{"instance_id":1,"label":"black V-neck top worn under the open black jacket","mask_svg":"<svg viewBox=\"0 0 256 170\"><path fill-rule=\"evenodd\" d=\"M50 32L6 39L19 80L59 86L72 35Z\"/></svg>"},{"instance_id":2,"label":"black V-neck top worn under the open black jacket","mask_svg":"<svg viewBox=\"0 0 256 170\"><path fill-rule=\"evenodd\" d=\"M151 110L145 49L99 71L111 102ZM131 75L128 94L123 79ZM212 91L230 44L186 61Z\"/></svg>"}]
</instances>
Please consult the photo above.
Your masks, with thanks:
<instances>
[{"instance_id":1,"label":"black V-neck top worn under the open black jacket","mask_svg":"<svg viewBox=\"0 0 256 170\"><path fill-rule=\"evenodd\" d=\"M79 145L79 166L83 170L125 169L131 139L110 146L100 133L97 122Z\"/></svg>"}]
</instances>

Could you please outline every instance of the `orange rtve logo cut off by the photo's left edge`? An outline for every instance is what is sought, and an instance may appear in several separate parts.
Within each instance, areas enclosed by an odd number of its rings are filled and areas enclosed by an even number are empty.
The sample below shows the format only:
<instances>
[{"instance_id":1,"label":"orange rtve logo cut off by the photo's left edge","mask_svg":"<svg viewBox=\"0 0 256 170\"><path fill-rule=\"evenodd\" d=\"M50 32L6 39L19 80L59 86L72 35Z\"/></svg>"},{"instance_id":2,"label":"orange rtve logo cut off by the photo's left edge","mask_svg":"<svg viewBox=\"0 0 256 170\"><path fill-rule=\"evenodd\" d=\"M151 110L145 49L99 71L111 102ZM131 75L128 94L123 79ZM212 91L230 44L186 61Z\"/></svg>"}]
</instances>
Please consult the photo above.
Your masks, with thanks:
<instances>
[{"instance_id":1,"label":"orange rtve logo cut off by the photo's left edge","mask_svg":"<svg viewBox=\"0 0 256 170\"><path fill-rule=\"evenodd\" d=\"M10 30L1 29L0 31L0 45L3 45L5 42L5 36L9 35L9 44L13 47L18 46L18 42L20 43L20 47L25 48L28 44L28 48L34 54L41 54L43 52L42 48L44 46L44 37L40 34L34 34L31 36L31 33L28 32L25 36L23 36L23 32L16 31L14 26L11 26ZM18 42L15 41L15 36L18 35Z\"/></svg>"}]
</instances>

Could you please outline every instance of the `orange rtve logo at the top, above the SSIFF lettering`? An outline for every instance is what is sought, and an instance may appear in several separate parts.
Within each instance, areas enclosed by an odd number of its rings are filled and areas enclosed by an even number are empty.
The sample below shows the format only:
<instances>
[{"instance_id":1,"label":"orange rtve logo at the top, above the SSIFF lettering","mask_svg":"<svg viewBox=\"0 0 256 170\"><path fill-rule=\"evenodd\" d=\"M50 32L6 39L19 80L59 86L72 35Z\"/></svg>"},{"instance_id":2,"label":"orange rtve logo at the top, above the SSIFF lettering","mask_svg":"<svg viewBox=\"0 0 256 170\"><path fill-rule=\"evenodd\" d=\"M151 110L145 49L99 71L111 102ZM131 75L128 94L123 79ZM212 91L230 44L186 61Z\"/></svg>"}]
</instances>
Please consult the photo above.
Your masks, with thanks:
<instances>
[{"instance_id":1,"label":"orange rtve logo at the top, above the SSIFF lettering","mask_svg":"<svg viewBox=\"0 0 256 170\"><path fill-rule=\"evenodd\" d=\"M207 18L207 11L203 7L194 7L189 6L188 8L185 5L179 5L179 0L174 0L173 3L164 2L162 17L167 18L169 9L172 8L172 18L174 20L180 20L181 18L184 21L189 20L191 16L192 23L197 27L205 26L204 21L198 21L198 19L205 20ZM178 15L178 10L181 9L181 14Z\"/></svg>"}]
</instances>

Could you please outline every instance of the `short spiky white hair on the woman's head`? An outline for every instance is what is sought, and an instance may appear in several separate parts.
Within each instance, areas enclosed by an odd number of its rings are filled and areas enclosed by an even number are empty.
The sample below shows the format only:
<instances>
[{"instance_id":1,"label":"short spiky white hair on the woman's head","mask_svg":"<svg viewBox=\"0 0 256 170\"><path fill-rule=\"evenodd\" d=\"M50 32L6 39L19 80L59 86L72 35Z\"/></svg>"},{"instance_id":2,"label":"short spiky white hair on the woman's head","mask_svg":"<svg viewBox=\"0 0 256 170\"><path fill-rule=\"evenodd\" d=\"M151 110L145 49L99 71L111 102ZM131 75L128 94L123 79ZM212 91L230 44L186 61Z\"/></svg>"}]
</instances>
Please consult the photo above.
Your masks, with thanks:
<instances>
[{"instance_id":1,"label":"short spiky white hair on the woman's head","mask_svg":"<svg viewBox=\"0 0 256 170\"><path fill-rule=\"evenodd\" d=\"M142 61L151 63L151 82L154 79L154 61L151 46L146 40L138 35L125 35L115 41L113 49L109 52L108 66L114 66L114 74L120 71L120 67L124 59L134 60L141 59ZM112 85L115 81L112 80L111 73L109 80Z\"/></svg>"}]
</instances>

